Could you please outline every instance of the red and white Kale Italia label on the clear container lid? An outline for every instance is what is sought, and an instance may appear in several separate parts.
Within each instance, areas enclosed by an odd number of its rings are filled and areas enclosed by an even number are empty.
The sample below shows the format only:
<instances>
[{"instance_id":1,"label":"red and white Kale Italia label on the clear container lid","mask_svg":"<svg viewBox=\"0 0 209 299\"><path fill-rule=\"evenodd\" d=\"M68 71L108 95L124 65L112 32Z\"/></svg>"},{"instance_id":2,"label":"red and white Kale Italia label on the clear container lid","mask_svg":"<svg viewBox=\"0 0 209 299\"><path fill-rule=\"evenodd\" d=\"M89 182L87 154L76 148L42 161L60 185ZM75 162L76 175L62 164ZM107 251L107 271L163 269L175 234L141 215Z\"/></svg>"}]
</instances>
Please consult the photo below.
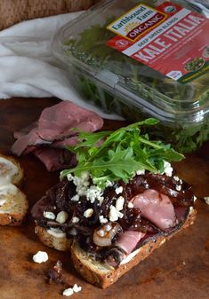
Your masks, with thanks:
<instances>
[{"instance_id":1,"label":"red and white Kale Italia label on the clear container lid","mask_svg":"<svg viewBox=\"0 0 209 299\"><path fill-rule=\"evenodd\" d=\"M146 14L149 14L147 19ZM108 42L117 51L173 80L197 71L209 60L209 21L200 14L165 2L150 11L148 6L140 4L127 16L129 18L125 19L125 14L108 27L117 32ZM134 16L141 19L137 26ZM153 19L156 16L157 19ZM205 71L207 69L205 67Z\"/></svg>"}]
</instances>

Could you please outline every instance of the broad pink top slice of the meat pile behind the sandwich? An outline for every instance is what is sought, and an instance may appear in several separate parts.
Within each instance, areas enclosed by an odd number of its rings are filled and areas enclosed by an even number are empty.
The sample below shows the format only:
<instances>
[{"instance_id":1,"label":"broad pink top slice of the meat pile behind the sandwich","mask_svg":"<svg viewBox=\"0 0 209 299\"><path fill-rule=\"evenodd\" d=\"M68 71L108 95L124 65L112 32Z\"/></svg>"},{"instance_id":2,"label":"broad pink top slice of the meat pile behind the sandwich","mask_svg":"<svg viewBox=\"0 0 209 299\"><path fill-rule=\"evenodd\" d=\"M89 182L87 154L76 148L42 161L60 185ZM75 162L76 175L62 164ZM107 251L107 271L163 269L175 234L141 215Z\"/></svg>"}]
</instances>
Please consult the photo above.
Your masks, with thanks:
<instances>
[{"instance_id":1,"label":"broad pink top slice of the meat pile behind the sandwich","mask_svg":"<svg viewBox=\"0 0 209 299\"><path fill-rule=\"evenodd\" d=\"M38 134L48 141L75 135L72 128L92 132L103 125L100 115L69 101L45 108L38 121Z\"/></svg>"}]
</instances>

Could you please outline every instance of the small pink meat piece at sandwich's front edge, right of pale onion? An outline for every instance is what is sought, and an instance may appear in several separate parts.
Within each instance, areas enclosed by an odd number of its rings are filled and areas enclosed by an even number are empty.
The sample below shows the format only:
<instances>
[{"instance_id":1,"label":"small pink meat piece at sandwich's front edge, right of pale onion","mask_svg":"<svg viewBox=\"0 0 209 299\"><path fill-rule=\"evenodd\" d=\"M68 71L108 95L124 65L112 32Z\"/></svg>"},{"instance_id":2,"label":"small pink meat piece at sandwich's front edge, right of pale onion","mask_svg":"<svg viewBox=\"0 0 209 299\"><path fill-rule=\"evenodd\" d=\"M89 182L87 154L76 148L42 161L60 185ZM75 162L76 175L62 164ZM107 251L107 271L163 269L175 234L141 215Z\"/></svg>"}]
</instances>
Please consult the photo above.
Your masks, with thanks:
<instances>
[{"instance_id":1,"label":"small pink meat piece at sandwich's front edge, right of pale onion","mask_svg":"<svg viewBox=\"0 0 209 299\"><path fill-rule=\"evenodd\" d=\"M144 232L125 231L120 234L115 245L125 250L126 254L130 254L139 241L144 237Z\"/></svg>"}]
</instances>

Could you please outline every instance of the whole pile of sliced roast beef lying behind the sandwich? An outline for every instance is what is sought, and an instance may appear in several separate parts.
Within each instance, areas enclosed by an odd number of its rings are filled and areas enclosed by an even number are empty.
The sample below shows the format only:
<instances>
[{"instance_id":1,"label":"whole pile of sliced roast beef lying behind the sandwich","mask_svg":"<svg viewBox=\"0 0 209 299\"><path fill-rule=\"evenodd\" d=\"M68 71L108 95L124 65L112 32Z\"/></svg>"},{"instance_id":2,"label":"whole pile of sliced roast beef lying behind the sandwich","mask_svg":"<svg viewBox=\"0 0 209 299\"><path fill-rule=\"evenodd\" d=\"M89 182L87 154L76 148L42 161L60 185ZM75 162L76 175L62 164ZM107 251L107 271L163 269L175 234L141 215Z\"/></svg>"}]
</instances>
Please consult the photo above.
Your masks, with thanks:
<instances>
[{"instance_id":1,"label":"whole pile of sliced roast beef lying behind the sandwich","mask_svg":"<svg viewBox=\"0 0 209 299\"><path fill-rule=\"evenodd\" d=\"M69 101L61 101L59 104L45 108L37 122L14 133L17 138L12 146L12 153L20 154L33 152L44 162L47 169L52 171L70 166L60 163L60 156L65 151L57 151L52 148L65 148L76 146L78 130L92 132L99 130L103 125L100 115L86 110ZM46 149L46 147L50 148ZM39 150L36 151L36 148ZM49 157L47 157L49 154ZM65 154L66 155L66 154ZM74 159L75 160L75 159ZM54 163L54 165L52 165Z\"/></svg>"}]
</instances>

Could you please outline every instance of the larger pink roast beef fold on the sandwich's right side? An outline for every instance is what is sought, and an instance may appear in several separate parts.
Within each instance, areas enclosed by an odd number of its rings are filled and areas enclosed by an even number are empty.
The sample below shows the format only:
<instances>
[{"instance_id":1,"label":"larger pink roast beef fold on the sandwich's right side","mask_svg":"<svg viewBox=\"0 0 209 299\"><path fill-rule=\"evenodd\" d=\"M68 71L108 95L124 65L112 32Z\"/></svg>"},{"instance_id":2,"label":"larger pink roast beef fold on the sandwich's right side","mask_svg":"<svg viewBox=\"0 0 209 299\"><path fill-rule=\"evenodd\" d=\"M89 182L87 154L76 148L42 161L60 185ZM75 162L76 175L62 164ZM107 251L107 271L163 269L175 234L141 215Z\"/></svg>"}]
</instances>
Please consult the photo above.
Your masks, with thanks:
<instances>
[{"instance_id":1,"label":"larger pink roast beef fold on the sandwich's right side","mask_svg":"<svg viewBox=\"0 0 209 299\"><path fill-rule=\"evenodd\" d=\"M176 224L173 203L169 197L149 189L133 197L133 206L141 210L141 216L149 219L158 228L166 230Z\"/></svg>"}]
</instances>

